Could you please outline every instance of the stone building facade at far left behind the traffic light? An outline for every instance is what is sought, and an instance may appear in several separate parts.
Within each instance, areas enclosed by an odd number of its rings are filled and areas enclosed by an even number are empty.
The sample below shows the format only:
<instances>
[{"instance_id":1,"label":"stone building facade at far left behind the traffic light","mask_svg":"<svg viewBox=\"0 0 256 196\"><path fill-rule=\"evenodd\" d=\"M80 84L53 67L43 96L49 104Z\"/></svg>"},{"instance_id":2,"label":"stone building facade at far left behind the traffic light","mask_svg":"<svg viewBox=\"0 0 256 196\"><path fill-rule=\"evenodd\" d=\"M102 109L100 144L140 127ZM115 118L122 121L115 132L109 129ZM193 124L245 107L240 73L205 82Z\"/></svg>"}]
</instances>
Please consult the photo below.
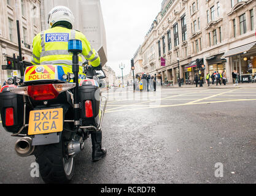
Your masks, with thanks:
<instances>
[{"instance_id":1,"label":"stone building facade at far left behind the traffic light","mask_svg":"<svg viewBox=\"0 0 256 196\"><path fill-rule=\"evenodd\" d=\"M33 39L41 32L41 0L0 1L0 65L6 58L18 56L17 20L20 24L21 53L25 61L31 61ZM1 85L10 78L12 70L0 68Z\"/></svg>"}]
</instances>

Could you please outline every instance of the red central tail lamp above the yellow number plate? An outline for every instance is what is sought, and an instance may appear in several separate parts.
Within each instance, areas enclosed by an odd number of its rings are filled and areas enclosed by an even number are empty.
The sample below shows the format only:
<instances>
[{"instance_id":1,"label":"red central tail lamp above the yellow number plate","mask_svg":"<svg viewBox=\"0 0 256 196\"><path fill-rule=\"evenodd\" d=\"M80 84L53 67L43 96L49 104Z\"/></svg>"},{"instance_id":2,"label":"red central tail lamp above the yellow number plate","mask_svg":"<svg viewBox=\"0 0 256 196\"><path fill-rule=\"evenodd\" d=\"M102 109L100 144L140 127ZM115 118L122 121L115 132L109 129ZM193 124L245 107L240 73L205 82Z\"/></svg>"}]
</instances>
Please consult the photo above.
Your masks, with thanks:
<instances>
[{"instance_id":1,"label":"red central tail lamp above the yellow number plate","mask_svg":"<svg viewBox=\"0 0 256 196\"><path fill-rule=\"evenodd\" d=\"M56 99L59 93L53 85L28 86L28 95L34 100Z\"/></svg>"}]
</instances>

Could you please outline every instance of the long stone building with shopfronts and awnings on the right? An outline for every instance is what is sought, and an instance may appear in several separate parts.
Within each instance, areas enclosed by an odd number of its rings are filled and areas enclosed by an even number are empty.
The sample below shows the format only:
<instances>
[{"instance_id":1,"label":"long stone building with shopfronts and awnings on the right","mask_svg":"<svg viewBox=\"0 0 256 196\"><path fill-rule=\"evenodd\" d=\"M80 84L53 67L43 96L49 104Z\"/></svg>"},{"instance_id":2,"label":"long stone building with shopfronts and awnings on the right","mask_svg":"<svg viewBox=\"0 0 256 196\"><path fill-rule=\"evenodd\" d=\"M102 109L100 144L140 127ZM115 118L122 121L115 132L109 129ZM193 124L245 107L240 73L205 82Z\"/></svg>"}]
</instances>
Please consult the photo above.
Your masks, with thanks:
<instances>
[{"instance_id":1,"label":"long stone building with shopfronts and awnings on the right","mask_svg":"<svg viewBox=\"0 0 256 196\"><path fill-rule=\"evenodd\" d=\"M141 45L145 72L193 81L196 59L213 72L256 73L255 0L165 0Z\"/></svg>"}]
</instances>

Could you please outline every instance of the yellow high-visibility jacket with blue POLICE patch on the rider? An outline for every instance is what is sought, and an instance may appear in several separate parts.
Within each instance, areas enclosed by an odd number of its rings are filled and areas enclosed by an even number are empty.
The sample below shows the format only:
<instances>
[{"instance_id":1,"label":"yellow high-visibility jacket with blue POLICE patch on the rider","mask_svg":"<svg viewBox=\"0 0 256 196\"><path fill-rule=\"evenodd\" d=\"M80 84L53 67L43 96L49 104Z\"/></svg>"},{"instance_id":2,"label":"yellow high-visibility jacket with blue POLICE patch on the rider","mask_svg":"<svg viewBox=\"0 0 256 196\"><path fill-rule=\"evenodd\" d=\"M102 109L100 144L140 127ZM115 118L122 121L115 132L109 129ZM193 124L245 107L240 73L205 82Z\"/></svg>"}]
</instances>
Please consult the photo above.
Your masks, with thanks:
<instances>
[{"instance_id":1,"label":"yellow high-visibility jacket with blue POLICE patch on the rider","mask_svg":"<svg viewBox=\"0 0 256 196\"><path fill-rule=\"evenodd\" d=\"M51 28L37 34L33 40L33 65L58 64L72 66L72 54L68 53L68 40L82 41L82 55L91 66L98 67L100 59L98 53L91 47L82 32L60 26ZM79 65L82 66L82 56L79 55ZM80 67L80 71L82 67Z\"/></svg>"}]
</instances>

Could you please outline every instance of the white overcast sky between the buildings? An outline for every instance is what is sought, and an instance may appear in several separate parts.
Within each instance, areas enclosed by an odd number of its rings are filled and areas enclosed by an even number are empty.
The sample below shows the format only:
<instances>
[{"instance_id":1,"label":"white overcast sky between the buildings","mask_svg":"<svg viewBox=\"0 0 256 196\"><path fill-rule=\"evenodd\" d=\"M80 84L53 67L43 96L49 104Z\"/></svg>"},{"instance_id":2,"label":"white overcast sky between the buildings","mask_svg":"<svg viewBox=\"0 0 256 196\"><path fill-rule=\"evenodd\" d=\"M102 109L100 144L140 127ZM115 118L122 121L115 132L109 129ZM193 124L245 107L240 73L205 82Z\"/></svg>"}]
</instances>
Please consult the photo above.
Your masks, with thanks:
<instances>
[{"instance_id":1,"label":"white overcast sky between the buildings","mask_svg":"<svg viewBox=\"0 0 256 196\"><path fill-rule=\"evenodd\" d=\"M131 69L131 58L144 42L163 0L100 0L107 36L107 66L115 74L125 64L123 74Z\"/></svg>"}]
</instances>

